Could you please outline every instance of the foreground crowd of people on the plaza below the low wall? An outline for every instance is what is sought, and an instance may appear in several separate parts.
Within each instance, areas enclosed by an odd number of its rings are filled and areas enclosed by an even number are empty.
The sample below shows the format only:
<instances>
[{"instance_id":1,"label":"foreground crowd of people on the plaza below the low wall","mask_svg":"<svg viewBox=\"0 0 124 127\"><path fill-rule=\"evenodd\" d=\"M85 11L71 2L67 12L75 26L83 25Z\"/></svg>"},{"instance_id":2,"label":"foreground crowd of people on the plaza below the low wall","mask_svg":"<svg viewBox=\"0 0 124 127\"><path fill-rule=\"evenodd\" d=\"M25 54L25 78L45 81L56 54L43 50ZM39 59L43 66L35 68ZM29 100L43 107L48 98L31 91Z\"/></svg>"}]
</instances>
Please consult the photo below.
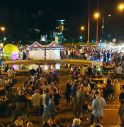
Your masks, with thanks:
<instances>
[{"instance_id":1,"label":"foreground crowd of people on the plaza below the low wall","mask_svg":"<svg viewBox=\"0 0 124 127\"><path fill-rule=\"evenodd\" d=\"M10 70L12 71L11 76ZM113 96L118 98L120 94L118 80L108 76L106 83L99 82L101 86L104 84L102 89L99 88L97 83L92 81L92 78L104 77L104 71L102 75L96 71L96 65L72 66L70 68L70 78L66 84L64 98L74 112L74 121L80 120L80 124L84 121L90 121L91 125L95 123L102 126L100 120L103 118L106 101L113 99ZM8 68L7 72L9 80L15 78L11 67ZM12 125L14 126L24 126L25 120L23 121L23 119L29 114L42 116L42 126L44 127L51 126L49 125L51 123L62 126L55 122L61 110L62 93L60 93L59 83L56 72L44 74L42 71L31 71L30 76L24 81L23 87L17 88L14 93L12 89L9 91L6 89L8 91L6 95L8 93L9 96L2 98L4 100L1 101L1 108L4 108L2 111L5 111L7 115L12 115Z\"/></svg>"}]
</instances>

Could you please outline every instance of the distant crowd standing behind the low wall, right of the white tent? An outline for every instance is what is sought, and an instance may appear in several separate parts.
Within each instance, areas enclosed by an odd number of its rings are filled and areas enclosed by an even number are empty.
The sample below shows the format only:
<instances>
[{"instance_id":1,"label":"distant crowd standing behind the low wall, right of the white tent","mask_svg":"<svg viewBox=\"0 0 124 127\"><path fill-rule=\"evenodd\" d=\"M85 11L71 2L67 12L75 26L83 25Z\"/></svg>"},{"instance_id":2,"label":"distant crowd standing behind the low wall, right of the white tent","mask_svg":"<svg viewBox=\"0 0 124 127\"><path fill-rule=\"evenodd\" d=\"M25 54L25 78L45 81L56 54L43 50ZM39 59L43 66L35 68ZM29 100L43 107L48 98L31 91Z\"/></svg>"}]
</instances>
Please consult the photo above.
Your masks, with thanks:
<instances>
[{"instance_id":1,"label":"distant crowd standing behind the low wall, right of the white tent","mask_svg":"<svg viewBox=\"0 0 124 127\"><path fill-rule=\"evenodd\" d=\"M83 46L66 46L61 50L62 59L86 59L94 61L109 62L111 59L115 60L116 64L124 59L124 54L120 51L96 49L96 47Z\"/></svg>"}]
</instances>

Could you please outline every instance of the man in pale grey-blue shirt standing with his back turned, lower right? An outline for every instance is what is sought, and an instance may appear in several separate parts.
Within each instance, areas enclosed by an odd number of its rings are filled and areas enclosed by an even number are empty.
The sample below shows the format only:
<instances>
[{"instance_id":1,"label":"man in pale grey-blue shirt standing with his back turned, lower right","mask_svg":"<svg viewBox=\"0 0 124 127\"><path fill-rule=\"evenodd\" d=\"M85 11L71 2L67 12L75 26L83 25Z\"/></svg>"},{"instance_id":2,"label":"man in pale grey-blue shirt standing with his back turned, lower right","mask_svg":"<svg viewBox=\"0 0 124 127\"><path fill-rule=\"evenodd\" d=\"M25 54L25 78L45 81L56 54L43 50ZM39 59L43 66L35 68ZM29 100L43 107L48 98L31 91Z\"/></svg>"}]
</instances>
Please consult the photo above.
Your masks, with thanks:
<instances>
[{"instance_id":1,"label":"man in pale grey-blue shirt standing with his back turned, lower right","mask_svg":"<svg viewBox=\"0 0 124 127\"><path fill-rule=\"evenodd\" d=\"M101 97L100 92L95 92L95 99L92 102L92 115L91 115L91 124L95 121L96 123L100 122L100 119L103 117L103 110L106 106L105 99Z\"/></svg>"}]
</instances>

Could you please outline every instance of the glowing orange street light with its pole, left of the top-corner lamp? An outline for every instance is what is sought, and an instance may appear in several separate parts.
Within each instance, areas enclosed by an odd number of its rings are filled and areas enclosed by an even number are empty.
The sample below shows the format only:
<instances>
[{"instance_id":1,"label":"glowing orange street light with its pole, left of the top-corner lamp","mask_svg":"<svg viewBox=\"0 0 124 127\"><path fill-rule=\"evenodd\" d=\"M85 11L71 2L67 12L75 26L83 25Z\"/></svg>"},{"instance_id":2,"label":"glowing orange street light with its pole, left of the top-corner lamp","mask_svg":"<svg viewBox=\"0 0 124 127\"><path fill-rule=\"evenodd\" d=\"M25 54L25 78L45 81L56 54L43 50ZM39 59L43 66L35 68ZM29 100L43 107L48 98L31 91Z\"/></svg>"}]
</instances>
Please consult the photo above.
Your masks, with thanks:
<instances>
[{"instance_id":1,"label":"glowing orange street light with its pole, left of the top-corner lamp","mask_svg":"<svg viewBox=\"0 0 124 127\"><path fill-rule=\"evenodd\" d=\"M94 18L96 19L96 46L98 47L98 42L99 42L99 18L100 18L100 13L95 12L94 13Z\"/></svg>"}]
</instances>

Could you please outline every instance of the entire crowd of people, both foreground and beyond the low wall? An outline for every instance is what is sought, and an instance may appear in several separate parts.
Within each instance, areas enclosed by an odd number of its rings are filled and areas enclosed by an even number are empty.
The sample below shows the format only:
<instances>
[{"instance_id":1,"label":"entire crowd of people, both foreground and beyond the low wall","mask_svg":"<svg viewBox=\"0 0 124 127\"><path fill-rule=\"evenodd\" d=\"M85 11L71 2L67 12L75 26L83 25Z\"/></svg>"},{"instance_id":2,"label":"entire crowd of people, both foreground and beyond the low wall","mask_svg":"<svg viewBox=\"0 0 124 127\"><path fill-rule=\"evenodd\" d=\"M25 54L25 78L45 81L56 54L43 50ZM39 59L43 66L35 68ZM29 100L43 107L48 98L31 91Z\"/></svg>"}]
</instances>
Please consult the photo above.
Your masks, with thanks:
<instances>
[{"instance_id":1,"label":"entire crowd of people, both foreground and beyond the low wall","mask_svg":"<svg viewBox=\"0 0 124 127\"><path fill-rule=\"evenodd\" d=\"M60 92L60 79L56 71L43 73L38 67L29 71L24 84L13 91L15 71L8 65L4 67L6 80L0 77L0 85L5 87L0 91L0 116L12 116L8 127L34 127L26 121L28 115L41 116L43 127L63 127L57 121L64 99L67 107L74 113L72 124L68 127L81 127L88 122L91 127L102 127L106 102L120 99L119 116L124 126L124 90L118 81L124 73L124 54L109 50L96 50L88 47L66 47L61 52L62 58L91 59L103 61L103 66L71 65L68 80L64 82L64 92ZM110 70L116 77L108 76ZM94 81L93 78L106 78L104 81ZM2 86L1 85L1 86ZM64 94L63 94L64 93ZM0 125L2 126L2 125ZM88 126L88 125L87 125Z\"/></svg>"}]
</instances>

